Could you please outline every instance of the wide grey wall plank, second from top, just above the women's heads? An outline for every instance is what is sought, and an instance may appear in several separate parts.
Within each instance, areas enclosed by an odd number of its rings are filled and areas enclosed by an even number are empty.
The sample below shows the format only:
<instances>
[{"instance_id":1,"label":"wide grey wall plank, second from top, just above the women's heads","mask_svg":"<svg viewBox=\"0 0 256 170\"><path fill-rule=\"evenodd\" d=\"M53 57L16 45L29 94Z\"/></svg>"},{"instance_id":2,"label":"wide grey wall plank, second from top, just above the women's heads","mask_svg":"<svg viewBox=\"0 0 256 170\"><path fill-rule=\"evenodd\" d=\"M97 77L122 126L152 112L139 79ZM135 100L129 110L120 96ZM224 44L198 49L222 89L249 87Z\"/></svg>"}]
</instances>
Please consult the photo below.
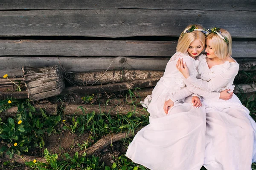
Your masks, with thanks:
<instances>
[{"instance_id":1,"label":"wide grey wall plank, second from top, just above the women's heads","mask_svg":"<svg viewBox=\"0 0 256 170\"><path fill-rule=\"evenodd\" d=\"M176 36L192 23L256 37L256 12L147 9L0 11L1 36ZM227 17L223 17L227 16Z\"/></svg>"}]
</instances>

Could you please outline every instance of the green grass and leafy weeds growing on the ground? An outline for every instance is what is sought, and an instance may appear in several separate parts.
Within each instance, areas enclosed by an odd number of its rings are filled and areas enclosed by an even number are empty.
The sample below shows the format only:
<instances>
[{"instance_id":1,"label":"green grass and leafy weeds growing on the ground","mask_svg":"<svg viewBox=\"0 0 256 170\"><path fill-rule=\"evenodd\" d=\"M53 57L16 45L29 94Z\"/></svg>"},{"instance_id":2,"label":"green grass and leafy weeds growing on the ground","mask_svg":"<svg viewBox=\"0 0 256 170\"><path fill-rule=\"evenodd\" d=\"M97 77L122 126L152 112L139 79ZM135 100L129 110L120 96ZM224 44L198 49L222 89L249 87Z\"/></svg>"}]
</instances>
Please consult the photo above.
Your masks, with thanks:
<instances>
[{"instance_id":1,"label":"green grass and leafy weeds growing on the ground","mask_svg":"<svg viewBox=\"0 0 256 170\"><path fill-rule=\"evenodd\" d=\"M140 89L137 89L140 90ZM135 98L132 91L128 91L130 98ZM256 118L256 100L254 97L249 97L244 94L238 95L242 104L250 110L250 115ZM58 111L58 115L49 116L46 115L44 110L41 109L38 113L35 110L29 100L14 100L10 99L12 103L8 103L9 99L0 101L0 112L9 109L12 106L17 106L17 115L6 120L0 119L0 136L6 143L5 147L2 147L0 153L4 151L12 156L13 154L27 153L30 150L44 148L44 138L52 133L60 133L58 127L60 124L64 124L64 130L70 130L71 133L90 134L90 138L93 141L97 141L103 136L110 133L120 133L124 131L134 131L139 127L147 125L149 123L148 117L136 117L135 109L137 107L137 100L131 104L131 110L126 115L111 116L108 113L95 114L95 112L87 112L83 107L79 107L84 113L83 115L67 116L62 114L61 109ZM84 98L85 102L90 102L93 99L88 95ZM99 107L102 107L99 105ZM36 114L37 113L37 114ZM62 122L61 120L66 120ZM19 121L22 123L18 124ZM68 122L68 123L67 123ZM125 147L128 147L132 139L126 138L122 140ZM14 144L17 143L17 146ZM92 143L84 141L83 144L79 144L81 149L89 147ZM9 147L7 147L9 146ZM85 155L78 156L77 153L74 156L70 156L68 153L62 154L60 157L64 159L62 161L57 160L56 154L49 154L47 150L44 151L44 156L47 158L48 163L43 164L40 162L27 162L27 166L37 170L52 169L52 170L68 170L68 169L84 169L84 170L147 170L147 168L133 163L130 159L124 155L114 158L115 162L111 167L106 166L104 163L99 162L99 157L93 156L87 158ZM15 169L11 162L6 162L6 165ZM206 170L204 167L201 170ZM256 170L256 164L252 164L252 170Z\"/></svg>"}]
</instances>

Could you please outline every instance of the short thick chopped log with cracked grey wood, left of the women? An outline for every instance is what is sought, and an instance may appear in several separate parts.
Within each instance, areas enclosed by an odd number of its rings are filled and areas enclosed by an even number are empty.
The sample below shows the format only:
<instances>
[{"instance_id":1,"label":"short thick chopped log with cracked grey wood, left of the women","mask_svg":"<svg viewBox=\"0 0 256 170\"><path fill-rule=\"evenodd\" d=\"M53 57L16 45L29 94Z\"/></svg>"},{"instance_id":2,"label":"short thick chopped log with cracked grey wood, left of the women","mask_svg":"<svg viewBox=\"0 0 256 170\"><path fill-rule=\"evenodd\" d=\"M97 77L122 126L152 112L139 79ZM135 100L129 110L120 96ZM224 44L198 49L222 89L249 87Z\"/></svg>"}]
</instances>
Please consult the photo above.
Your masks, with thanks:
<instances>
[{"instance_id":1,"label":"short thick chopped log with cracked grey wood, left of the women","mask_svg":"<svg viewBox=\"0 0 256 170\"><path fill-rule=\"evenodd\" d=\"M24 83L32 101L59 95L65 88L58 66L45 68L22 67Z\"/></svg>"}]
</instances>

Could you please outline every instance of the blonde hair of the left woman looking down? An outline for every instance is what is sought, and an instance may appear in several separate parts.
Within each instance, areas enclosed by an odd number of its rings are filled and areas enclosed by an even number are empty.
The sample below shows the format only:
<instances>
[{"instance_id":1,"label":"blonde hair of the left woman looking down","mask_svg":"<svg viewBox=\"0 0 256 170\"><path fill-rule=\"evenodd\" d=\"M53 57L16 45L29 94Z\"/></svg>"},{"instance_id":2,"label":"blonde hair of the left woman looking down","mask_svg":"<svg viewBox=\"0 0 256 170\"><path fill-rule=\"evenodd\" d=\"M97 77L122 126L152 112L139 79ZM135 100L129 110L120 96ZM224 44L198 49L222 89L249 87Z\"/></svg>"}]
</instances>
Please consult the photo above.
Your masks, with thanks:
<instances>
[{"instance_id":1,"label":"blonde hair of the left woman looking down","mask_svg":"<svg viewBox=\"0 0 256 170\"><path fill-rule=\"evenodd\" d=\"M191 26L195 26L198 29L203 29L204 28L203 26L201 26L199 24L192 24L192 25L187 26L186 29L189 29ZM186 29L184 29L184 31ZM190 44L194 40L200 40L201 43L203 44L203 47L205 47L205 35L204 35L203 32L193 31L193 32L186 33L185 35L182 32L180 34L180 37L179 37L179 40L178 40L178 44L177 44L177 47L176 47L176 52L185 53L189 49Z\"/></svg>"}]
</instances>

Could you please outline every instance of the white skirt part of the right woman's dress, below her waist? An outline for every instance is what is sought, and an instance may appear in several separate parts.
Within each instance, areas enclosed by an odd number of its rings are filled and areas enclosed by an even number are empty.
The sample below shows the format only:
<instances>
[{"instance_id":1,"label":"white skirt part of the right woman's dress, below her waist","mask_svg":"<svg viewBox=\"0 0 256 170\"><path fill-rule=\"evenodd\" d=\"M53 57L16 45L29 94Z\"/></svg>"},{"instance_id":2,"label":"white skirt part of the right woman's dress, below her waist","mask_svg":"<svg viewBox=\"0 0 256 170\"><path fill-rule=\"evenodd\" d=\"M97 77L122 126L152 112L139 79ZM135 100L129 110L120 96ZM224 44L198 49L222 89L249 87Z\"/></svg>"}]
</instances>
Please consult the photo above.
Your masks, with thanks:
<instances>
[{"instance_id":1,"label":"white skirt part of the right woman's dress, below her waist","mask_svg":"<svg viewBox=\"0 0 256 170\"><path fill-rule=\"evenodd\" d=\"M256 161L256 123L239 98L205 99L207 170L251 170Z\"/></svg>"}]
</instances>

